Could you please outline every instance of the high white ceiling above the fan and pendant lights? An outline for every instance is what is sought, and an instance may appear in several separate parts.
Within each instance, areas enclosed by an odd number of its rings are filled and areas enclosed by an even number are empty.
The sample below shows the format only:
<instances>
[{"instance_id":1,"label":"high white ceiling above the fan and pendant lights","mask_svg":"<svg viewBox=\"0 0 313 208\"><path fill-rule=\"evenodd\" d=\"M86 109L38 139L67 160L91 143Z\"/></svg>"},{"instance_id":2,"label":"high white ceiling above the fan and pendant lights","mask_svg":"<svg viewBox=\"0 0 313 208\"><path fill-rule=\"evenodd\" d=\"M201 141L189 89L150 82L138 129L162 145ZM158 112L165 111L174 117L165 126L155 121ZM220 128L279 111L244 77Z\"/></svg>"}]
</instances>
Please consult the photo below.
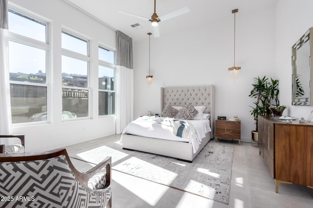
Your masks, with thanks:
<instances>
[{"instance_id":1,"label":"high white ceiling above the fan and pendant lights","mask_svg":"<svg viewBox=\"0 0 313 208\"><path fill-rule=\"evenodd\" d=\"M154 13L154 0L65 0L88 12L97 19L119 30L134 41L147 38L153 33L151 23L118 13L126 11L145 18ZM188 6L189 13L173 19L159 22L160 37L179 30L192 29L196 26L221 19L232 18L231 11L238 8L239 13L249 13L274 6L277 0L156 0L156 14L160 17L183 6ZM132 24L139 23L139 27Z\"/></svg>"}]
</instances>

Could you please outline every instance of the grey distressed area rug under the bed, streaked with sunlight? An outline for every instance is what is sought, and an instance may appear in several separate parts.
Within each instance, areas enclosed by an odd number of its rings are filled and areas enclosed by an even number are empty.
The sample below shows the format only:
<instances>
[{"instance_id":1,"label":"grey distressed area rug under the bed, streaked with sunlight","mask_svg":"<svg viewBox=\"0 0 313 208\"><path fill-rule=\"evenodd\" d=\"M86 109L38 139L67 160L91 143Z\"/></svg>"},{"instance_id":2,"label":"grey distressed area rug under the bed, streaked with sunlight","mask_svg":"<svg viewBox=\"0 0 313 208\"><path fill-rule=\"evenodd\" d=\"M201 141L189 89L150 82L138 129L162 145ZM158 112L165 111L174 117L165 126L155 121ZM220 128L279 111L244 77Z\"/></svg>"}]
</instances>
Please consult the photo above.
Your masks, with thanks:
<instances>
[{"instance_id":1,"label":"grey distressed area rug under the bed, streaked with sunlight","mask_svg":"<svg viewBox=\"0 0 313 208\"><path fill-rule=\"evenodd\" d=\"M112 169L228 204L233 147L209 142L192 163L175 158L123 150L118 141L70 157L98 164L112 156Z\"/></svg>"}]
</instances>

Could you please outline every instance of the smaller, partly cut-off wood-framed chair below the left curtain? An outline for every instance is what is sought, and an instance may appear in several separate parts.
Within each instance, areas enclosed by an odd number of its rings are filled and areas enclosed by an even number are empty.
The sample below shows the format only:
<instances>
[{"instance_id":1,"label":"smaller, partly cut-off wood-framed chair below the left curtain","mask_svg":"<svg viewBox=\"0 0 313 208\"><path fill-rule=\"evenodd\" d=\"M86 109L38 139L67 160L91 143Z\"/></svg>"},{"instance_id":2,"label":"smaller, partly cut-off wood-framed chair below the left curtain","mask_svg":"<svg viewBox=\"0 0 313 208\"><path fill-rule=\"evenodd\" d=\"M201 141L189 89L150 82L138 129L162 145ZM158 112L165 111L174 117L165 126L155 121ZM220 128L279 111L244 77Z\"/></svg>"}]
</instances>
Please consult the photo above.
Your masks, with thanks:
<instances>
[{"instance_id":1,"label":"smaller, partly cut-off wood-framed chair below the left curtain","mask_svg":"<svg viewBox=\"0 0 313 208\"><path fill-rule=\"evenodd\" d=\"M14 135L0 135L0 138L14 139L19 138L21 144L3 145L0 144L0 153L24 153L25 152L25 135L14 134Z\"/></svg>"}]
</instances>

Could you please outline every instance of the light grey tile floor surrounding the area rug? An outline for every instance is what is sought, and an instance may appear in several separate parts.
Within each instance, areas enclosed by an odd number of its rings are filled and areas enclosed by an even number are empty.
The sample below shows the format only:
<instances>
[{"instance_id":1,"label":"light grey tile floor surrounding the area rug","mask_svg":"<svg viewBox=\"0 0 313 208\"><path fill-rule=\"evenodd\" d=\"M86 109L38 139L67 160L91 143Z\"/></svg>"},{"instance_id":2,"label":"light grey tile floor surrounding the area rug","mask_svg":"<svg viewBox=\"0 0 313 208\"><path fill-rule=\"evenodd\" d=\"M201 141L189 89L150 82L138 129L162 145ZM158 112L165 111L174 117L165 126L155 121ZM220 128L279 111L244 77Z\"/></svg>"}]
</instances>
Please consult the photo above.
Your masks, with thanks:
<instances>
[{"instance_id":1,"label":"light grey tile floor surrounding the area rug","mask_svg":"<svg viewBox=\"0 0 313 208\"><path fill-rule=\"evenodd\" d=\"M83 151L119 137L112 135L66 148L68 152ZM239 146L237 141L223 138L218 142L234 147L228 205L112 170L112 208L313 208L313 189L306 186L281 184L275 193L275 181L257 147L244 142ZM71 160L80 171L92 167Z\"/></svg>"}]
</instances>

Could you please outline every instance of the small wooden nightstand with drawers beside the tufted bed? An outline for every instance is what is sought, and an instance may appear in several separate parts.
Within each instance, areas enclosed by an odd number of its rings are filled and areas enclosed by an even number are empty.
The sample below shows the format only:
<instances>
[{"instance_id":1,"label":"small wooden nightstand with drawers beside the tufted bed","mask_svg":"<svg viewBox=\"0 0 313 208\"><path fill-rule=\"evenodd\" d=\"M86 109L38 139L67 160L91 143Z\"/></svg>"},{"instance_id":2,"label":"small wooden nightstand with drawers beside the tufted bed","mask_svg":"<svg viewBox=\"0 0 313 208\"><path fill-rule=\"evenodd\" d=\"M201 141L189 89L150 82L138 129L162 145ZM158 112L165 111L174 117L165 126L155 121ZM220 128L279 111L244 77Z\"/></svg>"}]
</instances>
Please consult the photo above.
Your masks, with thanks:
<instances>
[{"instance_id":1,"label":"small wooden nightstand with drawers beside the tufted bed","mask_svg":"<svg viewBox=\"0 0 313 208\"><path fill-rule=\"evenodd\" d=\"M241 122L229 120L215 120L215 142L219 137L236 139L239 141L241 138Z\"/></svg>"}]
</instances>

